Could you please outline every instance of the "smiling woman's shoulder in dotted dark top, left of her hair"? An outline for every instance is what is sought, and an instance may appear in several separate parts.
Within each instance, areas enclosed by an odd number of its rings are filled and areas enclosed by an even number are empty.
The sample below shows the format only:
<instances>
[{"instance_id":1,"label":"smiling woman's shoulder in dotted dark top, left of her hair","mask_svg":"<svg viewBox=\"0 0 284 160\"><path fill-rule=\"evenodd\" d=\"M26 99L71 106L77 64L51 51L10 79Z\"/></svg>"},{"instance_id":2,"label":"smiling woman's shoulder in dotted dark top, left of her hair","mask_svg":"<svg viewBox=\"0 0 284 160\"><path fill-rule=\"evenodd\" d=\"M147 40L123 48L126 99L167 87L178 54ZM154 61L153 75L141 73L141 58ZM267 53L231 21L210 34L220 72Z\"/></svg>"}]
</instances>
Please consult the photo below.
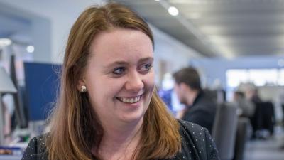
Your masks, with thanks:
<instances>
[{"instance_id":1,"label":"smiling woman's shoulder in dotted dark top, left of her hair","mask_svg":"<svg viewBox=\"0 0 284 160\"><path fill-rule=\"evenodd\" d=\"M45 146L45 138L47 134L40 135L38 137L34 137L28 143L26 151L23 154L22 160L47 160L46 154L46 146Z\"/></svg>"}]
</instances>

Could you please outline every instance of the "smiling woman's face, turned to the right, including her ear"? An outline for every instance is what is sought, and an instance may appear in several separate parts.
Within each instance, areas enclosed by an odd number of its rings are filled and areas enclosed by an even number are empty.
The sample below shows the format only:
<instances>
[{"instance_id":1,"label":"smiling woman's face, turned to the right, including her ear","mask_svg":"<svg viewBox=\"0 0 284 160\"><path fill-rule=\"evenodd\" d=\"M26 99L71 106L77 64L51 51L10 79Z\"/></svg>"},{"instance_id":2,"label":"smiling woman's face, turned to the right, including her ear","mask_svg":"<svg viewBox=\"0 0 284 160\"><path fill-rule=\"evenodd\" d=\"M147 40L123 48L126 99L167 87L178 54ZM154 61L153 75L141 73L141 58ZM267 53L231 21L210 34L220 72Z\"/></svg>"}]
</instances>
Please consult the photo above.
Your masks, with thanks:
<instances>
[{"instance_id":1,"label":"smiling woman's face, turned to the right, including her ear","mask_svg":"<svg viewBox=\"0 0 284 160\"><path fill-rule=\"evenodd\" d=\"M154 89L153 46L141 31L114 28L92 41L91 56L79 87L104 124L138 122Z\"/></svg>"}]
</instances>

